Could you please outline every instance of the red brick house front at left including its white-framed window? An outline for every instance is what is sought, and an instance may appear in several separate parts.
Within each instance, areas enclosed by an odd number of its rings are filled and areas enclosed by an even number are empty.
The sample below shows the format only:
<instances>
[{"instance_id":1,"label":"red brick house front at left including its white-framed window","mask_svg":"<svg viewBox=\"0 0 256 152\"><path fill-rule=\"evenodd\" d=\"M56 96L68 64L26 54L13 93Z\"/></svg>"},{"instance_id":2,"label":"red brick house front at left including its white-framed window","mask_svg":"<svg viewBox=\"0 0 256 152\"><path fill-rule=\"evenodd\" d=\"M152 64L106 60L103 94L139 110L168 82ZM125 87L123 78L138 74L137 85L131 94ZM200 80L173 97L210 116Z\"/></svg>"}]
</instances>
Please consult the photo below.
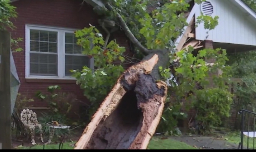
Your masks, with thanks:
<instances>
[{"instance_id":1,"label":"red brick house front at left including its white-framed window","mask_svg":"<svg viewBox=\"0 0 256 152\"><path fill-rule=\"evenodd\" d=\"M81 69L83 65L93 67L93 58L81 54L76 45L74 31L98 24L98 15L93 7L83 0L12 0L17 7L17 27L11 31L14 38L21 37L22 52L13 53L21 82L19 93L34 97L35 92L46 91L50 85L59 85L63 91L73 93L83 102L80 86L71 77L70 69ZM129 41L124 33L111 35L120 46L129 51ZM33 102L34 107L45 107L44 102ZM38 109L38 108L37 108Z\"/></svg>"}]
</instances>

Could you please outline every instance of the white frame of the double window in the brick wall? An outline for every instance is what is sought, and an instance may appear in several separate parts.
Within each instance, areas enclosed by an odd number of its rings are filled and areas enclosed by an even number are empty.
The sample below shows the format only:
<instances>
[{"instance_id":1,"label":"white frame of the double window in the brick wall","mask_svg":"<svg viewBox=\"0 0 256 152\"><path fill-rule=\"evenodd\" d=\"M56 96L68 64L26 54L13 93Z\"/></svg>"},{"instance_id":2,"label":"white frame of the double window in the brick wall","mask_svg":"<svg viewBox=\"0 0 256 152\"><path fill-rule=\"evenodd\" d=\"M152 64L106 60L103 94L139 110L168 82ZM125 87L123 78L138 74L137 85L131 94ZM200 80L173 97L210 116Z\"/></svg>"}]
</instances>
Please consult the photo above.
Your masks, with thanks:
<instances>
[{"instance_id":1,"label":"white frame of the double window in the brick wall","mask_svg":"<svg viewBox=\"0 0 256 152\"><path fill-rule=\"evenodd\" d=\"M57 53L58 53L58 76L34 76L30 75L30 30L44 30L58 32ZM52 26L41 26L26 24L25 26L25 78L26 79L63 79L75 80L72 76L65 76L65 33L74 33L80 29L59 28ZM90 68L94 69L94 58L90 59Z\"/></svg>"}]
</instances>

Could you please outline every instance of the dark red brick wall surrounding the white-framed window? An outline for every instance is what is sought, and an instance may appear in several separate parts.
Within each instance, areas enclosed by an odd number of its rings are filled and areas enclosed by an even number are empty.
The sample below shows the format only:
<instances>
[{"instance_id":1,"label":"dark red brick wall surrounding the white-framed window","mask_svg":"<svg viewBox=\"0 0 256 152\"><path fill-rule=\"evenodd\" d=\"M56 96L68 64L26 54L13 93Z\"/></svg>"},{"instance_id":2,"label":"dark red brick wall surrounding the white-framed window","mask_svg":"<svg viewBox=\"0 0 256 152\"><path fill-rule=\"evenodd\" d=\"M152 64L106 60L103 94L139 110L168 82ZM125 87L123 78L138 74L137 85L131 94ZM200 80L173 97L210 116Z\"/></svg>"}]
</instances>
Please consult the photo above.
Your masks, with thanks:
<instances>
[{"instance_id":1,"label":"dark red brick wall surrounding the white-framed window","mask_svg":"<svg viewBox=\"0 0 256 152\"><path fill-rule=\"evenodd\" d=\"M83 0L19 0L12 3L17 7L18 18L13 20L17 29L11 31L11 35L14 38L22 37L24 40L19 43L24 51L13 54L21 82L19 93L33 98L36 91L44 92L49 85L59 85L63 91L74 93L79 100L87 100L83 96L83 91L74 81L28 81L25 79L25 24L78 29L88 27L89 23L98 25L98 16L93 12L93 7L86 3L82 4L82 2ZM121 46L128 46L123 33L116 32L115 36ZM45 106L45 103L34 102L34 106Z\"/></svg>"}]
</instances>

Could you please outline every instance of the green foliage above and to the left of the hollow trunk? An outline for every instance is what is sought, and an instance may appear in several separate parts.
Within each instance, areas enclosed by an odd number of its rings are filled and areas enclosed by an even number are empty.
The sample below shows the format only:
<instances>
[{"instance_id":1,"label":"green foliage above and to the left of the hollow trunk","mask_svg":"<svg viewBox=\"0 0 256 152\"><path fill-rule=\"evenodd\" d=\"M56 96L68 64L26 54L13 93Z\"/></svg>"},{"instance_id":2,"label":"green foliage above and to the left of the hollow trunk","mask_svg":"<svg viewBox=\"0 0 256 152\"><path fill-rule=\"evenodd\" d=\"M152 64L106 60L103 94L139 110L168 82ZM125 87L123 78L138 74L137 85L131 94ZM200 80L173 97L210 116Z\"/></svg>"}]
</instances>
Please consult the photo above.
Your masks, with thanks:
<instances>
[{"instance_id":1,"label":"green foliage above and to the left of the hollow trunk","mask_svg":"<svg viewBox=\"0 0 256 152\"><path fill-rule=\"evenodd\" d=\"M169 1L163 0L162 4L152 0L102 0L113 6L113 11L106 11L96 8L97 13L104 14L106 19L117 22L116 15L119 13L126 22L132 34L139 43L148 49L173 49L173 39L178 37L187 25L185 13L188 11L189 4L186 0ZM200 3L204 0L196 0ZM153 9L150 10L150 6ZM202 15L204 16L204 15ZM217 17L201 17L199 22L205 22L206 28L213 29L217 24ZM122 27L123 28L123 27ZM84 28L76 32L78 37L77 44L84 49L83 54L94 57L96 69L83 67L83 70L72 70L73 76L77 79L84 90L84 95L93 105L91 114L95 112L98 105L109 93L115 80L124 71L122 65L129 58L124 56L125 49L120 47L116 41L106 42L94 26ZM135 48L135 56L140 56L140 52ZM118 60L119 62L115 62ZM170 76L169 69L164 69L166 77Z\"/></svg>"}]
</instances>

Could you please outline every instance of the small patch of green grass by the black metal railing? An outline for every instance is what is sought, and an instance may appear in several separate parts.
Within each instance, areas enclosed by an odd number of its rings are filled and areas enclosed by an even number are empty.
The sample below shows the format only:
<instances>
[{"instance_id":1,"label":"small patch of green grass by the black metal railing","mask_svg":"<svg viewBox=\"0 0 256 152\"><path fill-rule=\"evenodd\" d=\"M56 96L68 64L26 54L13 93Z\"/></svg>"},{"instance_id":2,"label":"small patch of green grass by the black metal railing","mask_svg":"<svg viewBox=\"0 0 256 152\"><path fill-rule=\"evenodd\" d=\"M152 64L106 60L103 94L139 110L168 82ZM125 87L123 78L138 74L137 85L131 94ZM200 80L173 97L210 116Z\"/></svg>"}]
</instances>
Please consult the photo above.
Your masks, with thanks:
<instances>
[{"instance_id":1,"label":"small patch of green grass by the black metal railing","mask_svg":"<svg viewBox=\"0 0 256 152\"><path fill-rule=\"evenodd\" d=\"M239 144L241 142L241 133L229 133L228 135L225 136L227 141L230 143L235 143ZM244 136L243 138L243 147L247 148L247 137ZM249 148L253 148L253 138L249 138ZM254 139L254 148L256 148L256 138Z\"/></svg>"}]
</instances>

